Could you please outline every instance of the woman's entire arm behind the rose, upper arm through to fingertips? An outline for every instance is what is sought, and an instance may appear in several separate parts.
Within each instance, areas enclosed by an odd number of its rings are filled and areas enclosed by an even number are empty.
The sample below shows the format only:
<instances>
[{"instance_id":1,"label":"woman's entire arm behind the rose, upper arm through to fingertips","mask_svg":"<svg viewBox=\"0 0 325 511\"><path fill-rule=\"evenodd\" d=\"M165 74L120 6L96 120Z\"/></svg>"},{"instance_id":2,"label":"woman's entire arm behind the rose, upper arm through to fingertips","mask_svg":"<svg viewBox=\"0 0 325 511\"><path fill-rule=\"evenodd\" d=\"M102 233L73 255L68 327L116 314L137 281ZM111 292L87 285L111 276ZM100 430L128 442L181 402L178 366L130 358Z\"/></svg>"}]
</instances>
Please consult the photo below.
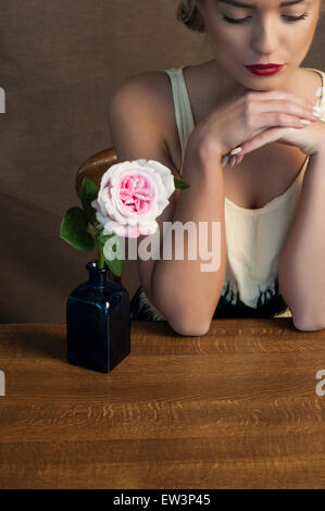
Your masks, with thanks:
<instances>
[{"instance_id":1,"label":"woman's entire arm behind the rose, upper arm through to fingertips","mask_svg":"<svg viewBox=\"0 0 325 511\"><path fill-rule=\"evenodd\" d=\"M165 151L171 126L165 121L165 101L159 90L155 75L149 74L130 79L114 95L110 126L118 160L152 159L173 169L171 155ZM207 115L191 133L182 174L182 179L191 187L180 192L177 189L179 196L173 194L161 216L183 227L191 222L197 235L202 222L208 227L209 249L214 257L215 251L220 254L220 265L214 271L202 271L201 265L209 261L197 250L204 250L200 240L190 239L197 257L188 260L187 236L183 260L175 258L173 242L171 259L139 261L138 265L148 298L176 332L207 333L221 296L226 273L222 155L266 127L301 126L300 116L308 115L304 101L289 92L242 91ZM161 228L162 217L158 223ZM216 233L216 247L212 233Z\"/></svg>"}]
</instances>

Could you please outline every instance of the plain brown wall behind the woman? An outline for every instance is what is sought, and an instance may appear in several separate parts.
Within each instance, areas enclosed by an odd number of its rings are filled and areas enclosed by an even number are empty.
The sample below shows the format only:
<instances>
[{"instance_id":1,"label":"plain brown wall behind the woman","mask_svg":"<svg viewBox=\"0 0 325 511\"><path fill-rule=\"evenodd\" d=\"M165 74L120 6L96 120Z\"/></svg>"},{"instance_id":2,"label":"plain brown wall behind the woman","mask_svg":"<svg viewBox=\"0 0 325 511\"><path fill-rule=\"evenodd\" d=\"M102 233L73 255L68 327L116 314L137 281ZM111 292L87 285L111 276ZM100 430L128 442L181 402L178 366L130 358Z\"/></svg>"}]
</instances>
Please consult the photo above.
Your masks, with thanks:
<instances>
[{"instance_id":1,"label":"plain brown wall behind the woman","mask_svg":"<svg viewBox=\"0 0 325 511\"><path fill-rule=\"evenodd\" d=\"M112 145L112 91L138 73L211 58L204 36L175 20L176 4L1 0L0 323L65 322L67 296L97 253L62 241L60 224L79 205L78 166ZM324 26L322 18L305 66L325 70ZM123 263L123 283L133 295L135 262Z\"/></svg>"}]
</instances>

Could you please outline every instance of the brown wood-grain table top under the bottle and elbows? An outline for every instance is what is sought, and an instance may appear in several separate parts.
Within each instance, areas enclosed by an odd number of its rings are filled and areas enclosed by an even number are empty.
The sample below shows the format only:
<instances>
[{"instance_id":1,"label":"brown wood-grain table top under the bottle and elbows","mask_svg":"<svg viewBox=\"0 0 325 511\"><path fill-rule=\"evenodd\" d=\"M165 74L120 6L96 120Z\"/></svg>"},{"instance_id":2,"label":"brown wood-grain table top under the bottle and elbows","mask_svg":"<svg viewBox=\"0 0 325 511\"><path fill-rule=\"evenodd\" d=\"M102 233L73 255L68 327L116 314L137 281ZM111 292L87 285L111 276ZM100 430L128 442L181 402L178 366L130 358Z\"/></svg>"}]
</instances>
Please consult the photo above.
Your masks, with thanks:
<instances>
[{"instance_id":1,"label":"brown wood-grain table top under the bottle and elbows","mask_svg":"<svg viewBox=\"0 0 325 511\"><path fill-rule=\"evenodd\" d=\"M0 325L1 488L324 488L325 331L135 321L109 374L68 364L65 339Z\"/></svg>"}]
</instances>

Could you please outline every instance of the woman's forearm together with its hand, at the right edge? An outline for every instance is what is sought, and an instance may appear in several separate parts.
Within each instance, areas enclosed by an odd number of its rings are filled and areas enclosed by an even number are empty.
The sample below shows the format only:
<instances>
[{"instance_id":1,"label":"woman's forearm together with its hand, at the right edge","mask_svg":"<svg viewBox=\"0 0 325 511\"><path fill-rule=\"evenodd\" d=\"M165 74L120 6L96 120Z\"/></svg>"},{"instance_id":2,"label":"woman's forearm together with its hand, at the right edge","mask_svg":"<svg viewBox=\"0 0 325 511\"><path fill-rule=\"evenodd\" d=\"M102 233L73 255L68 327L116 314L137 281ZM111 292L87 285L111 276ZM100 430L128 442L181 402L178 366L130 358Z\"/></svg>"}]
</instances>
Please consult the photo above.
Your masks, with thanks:
<instances>
[{"instance_id":1,"label":"woman's forearm together with its hand, at the right edge","mask_svg":"<svg viewBox=\"0 0 325 511\"><path fill-rule=\"evenodd\" d=\"M325 119L320 112L303 129L276 127L241 145L245 155L279 141L310 155L296 217L283 250L278 279L296 328L325 327ZM321 117L321 120L320 120Z\"/></svg>"}]
</instances>

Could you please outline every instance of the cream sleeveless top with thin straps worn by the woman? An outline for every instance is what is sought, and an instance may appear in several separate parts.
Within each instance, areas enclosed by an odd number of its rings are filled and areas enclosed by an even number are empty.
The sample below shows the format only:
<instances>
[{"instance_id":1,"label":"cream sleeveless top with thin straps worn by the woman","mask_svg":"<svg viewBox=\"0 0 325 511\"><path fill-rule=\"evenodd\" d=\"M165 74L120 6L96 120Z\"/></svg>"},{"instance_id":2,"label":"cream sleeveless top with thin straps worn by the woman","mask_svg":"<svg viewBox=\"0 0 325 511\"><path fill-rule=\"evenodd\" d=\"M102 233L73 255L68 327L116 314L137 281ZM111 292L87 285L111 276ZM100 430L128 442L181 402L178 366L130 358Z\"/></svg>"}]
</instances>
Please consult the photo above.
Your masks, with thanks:
<instances>
[{"instance_id":1,"label":"cream sleeveless top with thin straps worn by the woman","mask_svg":"<svg viewBox=\"0 0 325 511\"><path fill-rule=\"evenodd\" d=\"M195 128L183 75L184 67L185 65L165 70L172 83L183 163L188 136ZM304 68L322 76L323 88L318 89L318 105L324 111L322 121L325 122L325 72ZM272 296L278 294L280 254L295 219L308 162L309 157L292 185L263 208L253 210L241 208L225 197L227 265L222 295L229 303L235 304L240 298L247 306L257 308L259 299L260 303L265 303Z\"/></svg>"}]
</instances>

